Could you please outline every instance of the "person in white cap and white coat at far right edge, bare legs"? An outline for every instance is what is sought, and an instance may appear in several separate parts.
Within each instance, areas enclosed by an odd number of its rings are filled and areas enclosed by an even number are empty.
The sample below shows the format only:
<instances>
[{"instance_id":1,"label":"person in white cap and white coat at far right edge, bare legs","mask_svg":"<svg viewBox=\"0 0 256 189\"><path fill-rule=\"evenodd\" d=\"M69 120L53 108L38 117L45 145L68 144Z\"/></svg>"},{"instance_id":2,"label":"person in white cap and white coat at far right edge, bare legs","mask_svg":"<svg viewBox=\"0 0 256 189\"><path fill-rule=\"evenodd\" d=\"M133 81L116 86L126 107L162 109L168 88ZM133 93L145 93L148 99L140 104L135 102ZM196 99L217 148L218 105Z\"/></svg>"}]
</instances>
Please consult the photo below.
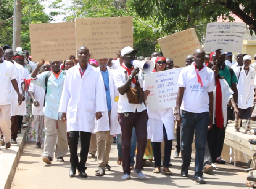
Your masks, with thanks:
<instances>
[{"instance_id":1,"label":"person in white cap and white coat at far right edge, bare legs","mask_svg":"<svg viewBox=\"0 0 256 189\"><path fill-rule=\"evenodd\" d=\"M253 112L253 98L255 82L255 69L250 67L251 56L243 57L243 66L235 70L238 78L238 110L239 119L235 123L235 131L239 132L242 119L246 119L245 134L253 134L251 130L251 113Z\"/></svg>"}]
</instances>

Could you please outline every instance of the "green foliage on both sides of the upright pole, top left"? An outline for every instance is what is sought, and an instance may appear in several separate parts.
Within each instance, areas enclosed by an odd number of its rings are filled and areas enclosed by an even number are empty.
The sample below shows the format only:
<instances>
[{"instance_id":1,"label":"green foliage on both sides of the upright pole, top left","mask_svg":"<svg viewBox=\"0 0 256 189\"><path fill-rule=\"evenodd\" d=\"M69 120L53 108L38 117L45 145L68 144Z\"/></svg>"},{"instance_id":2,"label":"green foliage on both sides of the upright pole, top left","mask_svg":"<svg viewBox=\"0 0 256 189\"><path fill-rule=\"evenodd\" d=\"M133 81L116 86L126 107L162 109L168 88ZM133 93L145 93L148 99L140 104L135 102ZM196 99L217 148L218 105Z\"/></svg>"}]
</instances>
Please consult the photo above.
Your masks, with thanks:
<instances>
[{"instance_id":1,"label":"green foliage on both sides of the upright pole, top left","mask_svg":"<svg viewBox=\"0 0 256 189\"><path fill-rule=\"evenodd\" d=\"M22 0L21 46L30 50L29 24L47 23L51 17L43 12L40 0ZM13 1L1 0L0 46L13 43ZM9 20L8 20L9 19ZM14 49L15 50L15 49Z\"/></svg>"}]
</instances>

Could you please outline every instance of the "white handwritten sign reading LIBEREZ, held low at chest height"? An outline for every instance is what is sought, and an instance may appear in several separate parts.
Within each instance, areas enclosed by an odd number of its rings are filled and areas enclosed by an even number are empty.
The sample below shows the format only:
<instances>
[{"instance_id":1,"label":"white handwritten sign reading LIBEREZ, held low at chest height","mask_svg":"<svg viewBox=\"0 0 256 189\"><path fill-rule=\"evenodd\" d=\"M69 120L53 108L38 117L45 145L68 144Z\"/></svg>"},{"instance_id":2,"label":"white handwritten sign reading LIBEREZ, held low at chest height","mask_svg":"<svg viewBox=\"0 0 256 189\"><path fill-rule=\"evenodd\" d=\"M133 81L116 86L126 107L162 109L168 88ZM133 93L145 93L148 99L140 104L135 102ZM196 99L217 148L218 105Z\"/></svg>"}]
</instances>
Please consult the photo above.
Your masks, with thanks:
<instances>
[{"instance_id":1,"label":"white handwritten sign reading LIBEREZ, held low at chest height","mask_svg":"<svg viewBox=\"0 0 256 189\"><path fill-rule=\"evenodd\" d=\"M147 101L151 111L176 107L178 77L182 68L145 74L145 87L150 90Z\"/></svg>"}]
</instances>

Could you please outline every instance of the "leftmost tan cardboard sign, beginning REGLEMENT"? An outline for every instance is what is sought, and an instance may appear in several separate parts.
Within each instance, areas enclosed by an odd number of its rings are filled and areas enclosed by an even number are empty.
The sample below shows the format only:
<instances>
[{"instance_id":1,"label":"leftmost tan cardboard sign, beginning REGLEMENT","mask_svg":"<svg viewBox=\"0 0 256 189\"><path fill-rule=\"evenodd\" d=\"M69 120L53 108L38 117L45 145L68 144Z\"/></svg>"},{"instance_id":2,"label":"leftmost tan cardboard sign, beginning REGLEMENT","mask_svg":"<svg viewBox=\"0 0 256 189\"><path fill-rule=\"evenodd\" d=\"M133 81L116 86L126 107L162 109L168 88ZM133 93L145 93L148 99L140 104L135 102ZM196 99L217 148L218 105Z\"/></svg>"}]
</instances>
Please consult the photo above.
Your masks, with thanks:
<instances>
[{"instance_id":1,"label":"leftmost tan cardboard sign, beginning REGLEMENT","mask_svg":"<svg viewBox=\"0 0 256 189\"><path fill-rule=\"evenodd\" d=\"M76 55L75 23L30 24L33 61L65 60Z\"/></svg>"}]
</instances>

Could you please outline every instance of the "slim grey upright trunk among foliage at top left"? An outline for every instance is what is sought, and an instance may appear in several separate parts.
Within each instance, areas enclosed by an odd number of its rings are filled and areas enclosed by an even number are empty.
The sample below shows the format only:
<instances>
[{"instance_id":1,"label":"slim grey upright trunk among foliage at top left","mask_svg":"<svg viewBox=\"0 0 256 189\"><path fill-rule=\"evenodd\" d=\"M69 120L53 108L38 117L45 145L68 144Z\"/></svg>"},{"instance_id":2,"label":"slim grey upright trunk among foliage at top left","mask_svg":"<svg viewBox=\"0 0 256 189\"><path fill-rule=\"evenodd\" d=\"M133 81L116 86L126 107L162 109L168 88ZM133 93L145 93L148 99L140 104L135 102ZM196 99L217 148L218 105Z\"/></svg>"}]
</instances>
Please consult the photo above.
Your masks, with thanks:
<instances>
[{"instance_id":1,"label":"slim grey upright trunk among foliage at top left","mask_svg":"<svg viewBox=\"0 0 256 189\"><path fill-rule=\"evenodd\" d=\"M15 0L13 28L13 50L21 46L21 0Z\"/></svg>"}]
</instances>

